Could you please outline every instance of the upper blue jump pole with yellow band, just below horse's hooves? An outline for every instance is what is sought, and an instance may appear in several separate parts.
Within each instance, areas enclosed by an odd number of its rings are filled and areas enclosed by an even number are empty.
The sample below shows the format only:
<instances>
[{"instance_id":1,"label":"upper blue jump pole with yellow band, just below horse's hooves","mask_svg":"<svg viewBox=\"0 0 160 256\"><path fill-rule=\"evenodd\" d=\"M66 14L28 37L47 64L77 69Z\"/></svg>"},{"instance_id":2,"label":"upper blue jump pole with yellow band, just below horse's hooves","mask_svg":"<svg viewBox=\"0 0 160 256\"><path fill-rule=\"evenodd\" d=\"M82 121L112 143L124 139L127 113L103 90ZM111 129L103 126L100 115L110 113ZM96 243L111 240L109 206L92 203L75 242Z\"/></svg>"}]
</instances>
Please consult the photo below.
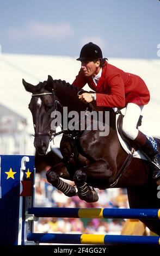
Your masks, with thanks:
<instances>
[{"instance_id":1,"label":"upper blue jump pole with yellow band, just below horse's hooves","mask_svg":"<svg viewBox=\"0 0 160 256\"><path fill-rule=\"evenodd\" d=\"M36 217L160 219L159 209L30 208Z\"/></svg>"}]
</instances>

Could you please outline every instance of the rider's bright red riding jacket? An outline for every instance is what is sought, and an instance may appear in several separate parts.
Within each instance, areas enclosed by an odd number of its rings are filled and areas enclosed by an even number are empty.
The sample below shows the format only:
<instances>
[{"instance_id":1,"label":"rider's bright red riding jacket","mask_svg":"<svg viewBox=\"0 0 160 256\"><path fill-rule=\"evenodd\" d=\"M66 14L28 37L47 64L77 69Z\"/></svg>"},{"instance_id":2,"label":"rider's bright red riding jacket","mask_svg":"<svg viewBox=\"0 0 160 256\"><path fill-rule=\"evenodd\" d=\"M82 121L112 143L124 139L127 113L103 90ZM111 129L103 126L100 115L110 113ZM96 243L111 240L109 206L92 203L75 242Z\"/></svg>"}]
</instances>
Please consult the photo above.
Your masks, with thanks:
<instances>
[{"instance_id":1,"label":"rider's bright red riding jacket","mask_svg":"<svg viewBox=\"0 0 160 256\"><path fill-rule=\"evenodd\" d=\"M150 93L145 82L137 75L127 73L105 62L100 80L95 85L92 77L85 77L79 71L73 86L82 88L88 83L96 92L96 105L100 107L125 107L128 102L146 105Z\"/></svg>"}]
</instances>

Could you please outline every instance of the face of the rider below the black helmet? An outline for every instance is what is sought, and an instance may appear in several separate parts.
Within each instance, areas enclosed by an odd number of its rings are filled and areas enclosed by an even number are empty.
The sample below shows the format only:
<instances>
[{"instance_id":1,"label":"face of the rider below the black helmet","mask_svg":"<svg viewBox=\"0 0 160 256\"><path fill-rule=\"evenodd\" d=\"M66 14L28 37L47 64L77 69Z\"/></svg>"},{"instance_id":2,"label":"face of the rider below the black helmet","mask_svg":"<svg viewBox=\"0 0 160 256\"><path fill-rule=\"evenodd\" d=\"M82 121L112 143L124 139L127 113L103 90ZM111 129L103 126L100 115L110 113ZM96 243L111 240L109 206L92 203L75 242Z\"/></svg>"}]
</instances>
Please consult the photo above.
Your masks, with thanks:
<instances>
[{"instance_id":1,"label":"face of the rider below the black helmet","mask_svg":"<svg viewBox=\"0 0 160 256\"><path fill-rule=\"evenodd\" d=\"M100 60L97 60L96 62L87 62L83 61L81 62L81 68L84 72L84 76L96 76L100 71Z\"/></svg>"}]
</instances>

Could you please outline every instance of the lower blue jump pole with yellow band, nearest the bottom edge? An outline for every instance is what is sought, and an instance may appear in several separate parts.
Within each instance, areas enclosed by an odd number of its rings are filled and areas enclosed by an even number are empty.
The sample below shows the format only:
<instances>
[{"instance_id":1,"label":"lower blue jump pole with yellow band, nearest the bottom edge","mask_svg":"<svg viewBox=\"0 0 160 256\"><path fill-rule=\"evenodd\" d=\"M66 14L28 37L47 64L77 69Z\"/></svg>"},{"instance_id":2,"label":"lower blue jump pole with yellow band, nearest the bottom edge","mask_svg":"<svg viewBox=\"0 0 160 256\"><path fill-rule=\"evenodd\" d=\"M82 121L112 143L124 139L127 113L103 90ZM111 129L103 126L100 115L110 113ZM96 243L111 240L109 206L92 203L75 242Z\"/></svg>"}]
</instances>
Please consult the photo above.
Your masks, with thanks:
<instances>
[{"instance_id":1,"label":"lower blue jump pole with yellow band, nearest the bottom edge","mask_svg":"<svg viewBox=\"0 0 160 256\"><path fill-rule=\"evenodd\" d=\"M83 245L160 245L159 236L29 233L28 241Z\"/></svg>"}]
</instances>

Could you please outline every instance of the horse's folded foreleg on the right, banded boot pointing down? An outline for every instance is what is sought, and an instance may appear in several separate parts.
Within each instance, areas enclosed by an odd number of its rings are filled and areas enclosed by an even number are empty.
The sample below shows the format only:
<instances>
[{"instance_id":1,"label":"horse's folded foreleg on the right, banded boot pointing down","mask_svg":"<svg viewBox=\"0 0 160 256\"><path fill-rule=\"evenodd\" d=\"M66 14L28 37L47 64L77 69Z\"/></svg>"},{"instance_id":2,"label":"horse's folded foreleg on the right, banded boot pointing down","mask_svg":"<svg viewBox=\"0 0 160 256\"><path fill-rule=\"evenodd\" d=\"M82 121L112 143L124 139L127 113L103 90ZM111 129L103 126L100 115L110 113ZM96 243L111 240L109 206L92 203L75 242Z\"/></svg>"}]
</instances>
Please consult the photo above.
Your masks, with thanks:
<instances>
[{"instance_id":1,"label":"horse's folded foreleg on the right, banded boot pointing down","mask_svg":"<svg viewBox=\"0 0 160 256\"><path fill-rule=\"evenodd\" d=\"M82 167L76 170L75 175L73 176L73 180L77 186L78 196L80 199L85 200L88 203L97 202L99 197L95 190L91 190L91 188L86 183L88 177L104 179L106 175L106 171L108 169L108 163L106 160L99 160L94 163L91 163L87 167ZM107 178L111 175L111 172L107 174ZM105 176L106 179L106 176Z\"/></svg>"}]
</instances>

